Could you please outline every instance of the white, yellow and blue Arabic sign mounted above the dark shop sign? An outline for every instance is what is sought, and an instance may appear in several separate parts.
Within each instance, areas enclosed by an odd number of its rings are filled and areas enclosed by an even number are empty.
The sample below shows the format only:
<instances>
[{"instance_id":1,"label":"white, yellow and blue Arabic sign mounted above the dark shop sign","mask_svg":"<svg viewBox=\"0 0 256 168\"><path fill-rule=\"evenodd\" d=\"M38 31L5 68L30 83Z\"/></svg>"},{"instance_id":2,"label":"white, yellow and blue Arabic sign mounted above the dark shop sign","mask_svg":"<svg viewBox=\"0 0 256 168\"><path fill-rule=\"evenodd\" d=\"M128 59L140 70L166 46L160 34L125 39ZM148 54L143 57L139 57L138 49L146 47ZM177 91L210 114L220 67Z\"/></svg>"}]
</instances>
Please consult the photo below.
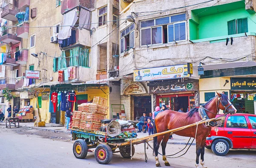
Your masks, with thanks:
<instances>
[{"instance_id":1,"label":"white, yellow and blue Arabic sign mounted above the dark shop sign","mask_svg":"<svg viewBox=\"0 0 256 168\"><path fill-rule=\"evenodd\" d=\"M189 68L188 68L189 67ZM153 81L171 78L190 77L192 64L173 65L134 70L134 81Z\"/></svg>"}]
</instances>

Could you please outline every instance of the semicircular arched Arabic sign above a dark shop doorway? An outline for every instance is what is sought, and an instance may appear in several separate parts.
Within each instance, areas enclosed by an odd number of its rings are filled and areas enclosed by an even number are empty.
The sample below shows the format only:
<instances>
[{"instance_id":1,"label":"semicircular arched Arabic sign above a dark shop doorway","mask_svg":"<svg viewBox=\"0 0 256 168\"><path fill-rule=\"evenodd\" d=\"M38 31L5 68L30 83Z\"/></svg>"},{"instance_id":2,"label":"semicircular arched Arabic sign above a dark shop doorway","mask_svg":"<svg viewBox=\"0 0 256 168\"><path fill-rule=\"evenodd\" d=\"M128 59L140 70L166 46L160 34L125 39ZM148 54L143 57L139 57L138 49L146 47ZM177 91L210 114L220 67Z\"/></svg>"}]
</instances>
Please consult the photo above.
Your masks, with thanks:
<instances>
[{"instance_id":1,"label":"semicircular arched Arabic sign above a dark shop doorway","mask_svg":"<svg viewBox=\"0 0 256 168\"><path fill-rule=\"evenodd\" d=\"M121 84L121 95L137 95L147 93L145 87L140 82L129 80Z\"/></svg>"}]
</instances>

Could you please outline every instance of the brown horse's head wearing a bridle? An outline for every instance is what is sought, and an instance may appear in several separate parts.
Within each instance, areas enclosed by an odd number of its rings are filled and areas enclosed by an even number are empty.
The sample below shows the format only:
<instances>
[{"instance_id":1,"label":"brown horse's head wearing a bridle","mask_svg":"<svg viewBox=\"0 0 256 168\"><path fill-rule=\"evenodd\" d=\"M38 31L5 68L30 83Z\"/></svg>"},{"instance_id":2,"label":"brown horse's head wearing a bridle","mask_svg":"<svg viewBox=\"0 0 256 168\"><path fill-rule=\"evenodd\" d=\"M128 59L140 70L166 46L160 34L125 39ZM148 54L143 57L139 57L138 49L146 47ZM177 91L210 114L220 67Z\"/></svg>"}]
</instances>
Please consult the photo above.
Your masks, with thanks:
<instances>
[{"instance_id":1,"label":"brown horse's head wearing a bridle","mask_svg":"<svg viewBox=\"0 0 256 168\"><path fill-rule=\"evenodd\" d=\"M222 109L224 111L224 114L235 114L237 111L225 94L217 92L216 103L218 104L217 108Z\"/></svg>"}]
</instances>

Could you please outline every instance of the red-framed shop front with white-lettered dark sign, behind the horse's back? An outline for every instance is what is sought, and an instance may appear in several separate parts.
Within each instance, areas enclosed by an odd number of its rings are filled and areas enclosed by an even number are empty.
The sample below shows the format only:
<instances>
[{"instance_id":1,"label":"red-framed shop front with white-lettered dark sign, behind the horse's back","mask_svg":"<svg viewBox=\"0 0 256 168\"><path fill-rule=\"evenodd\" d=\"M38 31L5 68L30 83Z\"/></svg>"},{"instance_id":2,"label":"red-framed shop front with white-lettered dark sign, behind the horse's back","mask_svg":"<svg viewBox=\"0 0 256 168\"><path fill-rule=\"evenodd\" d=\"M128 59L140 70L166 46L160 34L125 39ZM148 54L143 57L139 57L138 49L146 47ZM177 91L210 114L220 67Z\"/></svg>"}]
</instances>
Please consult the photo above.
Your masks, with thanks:
<instances>
[{"instance_id":1,"label":"red-framed shop front with white-lettered dark sign, behind the horse's back","mask_svg":"<svg viewBox=\"0 0 256 168\"><path fill-rule=\"evenodd\" d=\"M186 78L148 83L149 93L156 98L156 106L166 105L167 108L183 112L199 106L198 79Z\"/></svg>"}]
</instances>

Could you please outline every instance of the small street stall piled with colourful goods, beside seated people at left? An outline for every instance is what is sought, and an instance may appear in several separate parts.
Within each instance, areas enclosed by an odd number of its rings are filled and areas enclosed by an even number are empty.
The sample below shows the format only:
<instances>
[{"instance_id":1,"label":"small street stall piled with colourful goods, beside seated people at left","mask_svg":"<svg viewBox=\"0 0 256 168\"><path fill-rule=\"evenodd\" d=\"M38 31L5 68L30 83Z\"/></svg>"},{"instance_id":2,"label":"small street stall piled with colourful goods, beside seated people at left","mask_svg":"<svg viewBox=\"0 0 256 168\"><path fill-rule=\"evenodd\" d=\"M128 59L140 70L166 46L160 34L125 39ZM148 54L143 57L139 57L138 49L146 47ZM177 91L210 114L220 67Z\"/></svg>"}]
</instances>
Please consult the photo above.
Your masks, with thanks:
<instances>
[{"instance_id":1,"label":"small street stall piled with colourful goods, beside seated people at left","mask_svg":"<svg viewBox=\"0 0 256 168\"><path fill-rule=\"evenodd\" d=\"M21 120L21 122L23 121L27 122L27 120L31 122L31 120L33 121L34 119L33 112L34 112L34 108L32 106L24 106L19 110L19 113L16 115L16 117L19 120Z\"/></svg>"}]
</instances>

